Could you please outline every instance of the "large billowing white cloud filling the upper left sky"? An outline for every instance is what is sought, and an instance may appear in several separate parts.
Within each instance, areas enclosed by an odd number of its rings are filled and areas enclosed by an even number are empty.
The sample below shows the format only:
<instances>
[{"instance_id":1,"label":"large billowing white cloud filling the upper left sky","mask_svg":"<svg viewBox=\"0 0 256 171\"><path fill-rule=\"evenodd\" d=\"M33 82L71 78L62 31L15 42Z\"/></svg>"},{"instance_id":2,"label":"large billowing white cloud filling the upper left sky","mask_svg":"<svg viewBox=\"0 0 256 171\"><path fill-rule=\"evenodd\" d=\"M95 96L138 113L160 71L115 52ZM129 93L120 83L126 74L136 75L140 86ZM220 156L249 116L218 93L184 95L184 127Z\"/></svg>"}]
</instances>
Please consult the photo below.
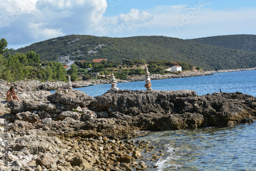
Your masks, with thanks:
<instances>
[{"instance_id":1,"label":"large billowing white cloud filling the upper left sky","mask_svg":"<svg viewBox=\"0 0 256 171\"><path fill-rule=\"evenodd\" d=\"M95 31L108 7L106 0L0 0L0 4L0 33L9 45Z\"/></svg>"}]
</instances>

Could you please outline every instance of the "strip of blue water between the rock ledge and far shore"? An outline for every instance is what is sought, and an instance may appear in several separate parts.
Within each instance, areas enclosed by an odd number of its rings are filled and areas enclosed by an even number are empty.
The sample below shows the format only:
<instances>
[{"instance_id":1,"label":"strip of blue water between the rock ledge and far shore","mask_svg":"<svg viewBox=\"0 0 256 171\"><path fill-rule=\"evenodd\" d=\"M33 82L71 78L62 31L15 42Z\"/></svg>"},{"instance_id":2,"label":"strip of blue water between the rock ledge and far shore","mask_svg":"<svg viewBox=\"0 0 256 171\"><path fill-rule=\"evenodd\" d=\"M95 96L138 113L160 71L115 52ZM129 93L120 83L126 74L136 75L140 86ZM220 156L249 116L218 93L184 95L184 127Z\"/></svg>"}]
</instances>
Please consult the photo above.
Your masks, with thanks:
<instances>
[{"instance_id":1,"label":"strip of blue water between the rock ledge and far shore","mask_svg":"<svg viewBox=\"0 0 256 171\"><path fill-rule=\"evenodd\" d=\"M117 87L121 90L146 90L145 81L120 82ZM76 90L86 92L90 96L100 96L110 90L111 84L100 84ZM219 92L241 92L256 96L256 70L217 73L215 75L152 80L153 90L195 90L197 95Z\"/></svg>"}]
</instances>

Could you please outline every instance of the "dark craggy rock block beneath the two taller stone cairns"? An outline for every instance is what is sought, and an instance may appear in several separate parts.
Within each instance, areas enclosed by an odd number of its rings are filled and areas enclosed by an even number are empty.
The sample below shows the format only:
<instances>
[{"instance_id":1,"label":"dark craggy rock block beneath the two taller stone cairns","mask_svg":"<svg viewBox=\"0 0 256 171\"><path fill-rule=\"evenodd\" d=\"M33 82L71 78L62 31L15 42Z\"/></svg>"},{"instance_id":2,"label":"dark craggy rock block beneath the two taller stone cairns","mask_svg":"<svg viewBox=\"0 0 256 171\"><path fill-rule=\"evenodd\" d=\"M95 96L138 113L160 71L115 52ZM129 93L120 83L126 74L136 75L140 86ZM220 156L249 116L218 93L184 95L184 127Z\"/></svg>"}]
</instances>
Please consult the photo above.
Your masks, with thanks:
<instances>
[{"instance_id":1,"label":"dark craggy rock block beneath the two taller stone cairns","mask_svg":"<svg viewBox=\"0 0 256 171\"><path fill-rule=\"evenodd\" d=\"M224 127L252 122L256 116L256 98L239 92L197 96L195 91L186 90L120 90L95 98L91 110L108 111L127 122L127 116L132 116L131 124L152 131Z\"/></svg>"}]
</instances>

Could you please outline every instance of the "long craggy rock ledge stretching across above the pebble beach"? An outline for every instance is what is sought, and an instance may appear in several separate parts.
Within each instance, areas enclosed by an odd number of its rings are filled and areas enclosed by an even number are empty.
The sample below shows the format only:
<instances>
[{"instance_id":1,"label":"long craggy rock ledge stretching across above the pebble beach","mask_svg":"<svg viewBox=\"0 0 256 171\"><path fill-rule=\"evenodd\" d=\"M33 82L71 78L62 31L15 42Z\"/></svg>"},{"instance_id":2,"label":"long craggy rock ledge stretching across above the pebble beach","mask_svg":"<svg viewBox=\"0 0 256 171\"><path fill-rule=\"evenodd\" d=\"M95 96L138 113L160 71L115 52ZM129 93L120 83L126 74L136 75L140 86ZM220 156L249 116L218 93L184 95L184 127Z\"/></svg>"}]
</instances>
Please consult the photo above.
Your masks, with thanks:
<instances>
[{"instance_id":1,"label":"long craggy rock ledge stretching across above the pebble beach","mask_svg":"<svg viewBox=\"0 0 256 171\"><path fill-rule=\"evenodd\" d=\"M112 138L129 138L139 130L224 127L250 123L256 116L256 98L239 92L198 96L188 90L118 90L93 98L77 90L60 89L47 95L39 91L34 96L27 93L32 99L12 100L8 103L15 114L12 118L28 122L31 129L29 124L38 123L37 128L54 136L94 137L96 134L90 132L94 131ZM35 100L38 97L40 101ZM66 134L55 131L59 129Z\"/></svg>"}]
</instances>

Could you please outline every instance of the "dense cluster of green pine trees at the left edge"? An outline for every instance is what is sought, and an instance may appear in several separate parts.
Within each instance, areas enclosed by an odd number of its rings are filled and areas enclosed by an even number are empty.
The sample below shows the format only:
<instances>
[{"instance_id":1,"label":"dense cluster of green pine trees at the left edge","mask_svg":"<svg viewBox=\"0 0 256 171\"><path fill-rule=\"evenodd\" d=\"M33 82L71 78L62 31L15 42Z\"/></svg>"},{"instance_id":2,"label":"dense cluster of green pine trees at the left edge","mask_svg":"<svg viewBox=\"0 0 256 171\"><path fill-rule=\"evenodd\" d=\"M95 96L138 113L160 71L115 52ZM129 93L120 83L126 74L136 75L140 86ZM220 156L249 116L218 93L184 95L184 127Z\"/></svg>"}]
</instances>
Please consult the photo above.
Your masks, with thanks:
<instances>
[{"instance_id":1,"label":"dense cluster of green pine trees at the left edge","mask_svg":"<svg viewBox=\"0 0 256 171\"><path fill-rule=\"evenodd\" d=\"M40 61L39 54L30 51L26 54L8 52L8 42L2 38L0 41L0 79L7 81L35 79L40 81L66 81L67 73L59 62Z\"/></svg>"}]
</instances>

